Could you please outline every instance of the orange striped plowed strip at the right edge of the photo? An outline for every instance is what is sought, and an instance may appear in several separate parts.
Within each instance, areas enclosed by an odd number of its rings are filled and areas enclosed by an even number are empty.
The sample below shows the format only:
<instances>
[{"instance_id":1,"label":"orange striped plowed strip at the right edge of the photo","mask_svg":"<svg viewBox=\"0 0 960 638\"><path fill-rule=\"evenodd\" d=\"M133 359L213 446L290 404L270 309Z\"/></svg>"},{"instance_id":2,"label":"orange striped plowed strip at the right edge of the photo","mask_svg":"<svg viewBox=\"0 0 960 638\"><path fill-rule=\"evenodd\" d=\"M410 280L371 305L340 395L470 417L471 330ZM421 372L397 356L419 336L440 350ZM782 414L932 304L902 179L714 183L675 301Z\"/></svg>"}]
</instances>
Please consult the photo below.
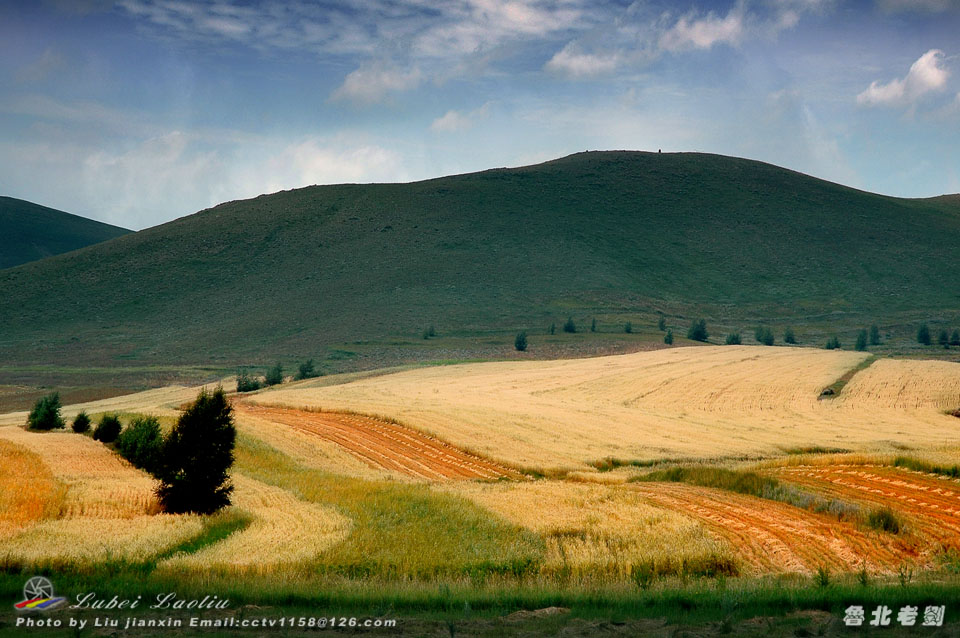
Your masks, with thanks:
<instances>
[{"instance_id":1,"label":"orange striped plowed strip at the right edge of the photo","mask_svg":"<svg viewBox=\"0 0 960 638\"><path fill-rule=\"evenodd\" d=\"M827 465L784 467L785 481L876 506L911 519L915 533L960 549L960 483L897 467Z\"/></svg>"}]
</instances>

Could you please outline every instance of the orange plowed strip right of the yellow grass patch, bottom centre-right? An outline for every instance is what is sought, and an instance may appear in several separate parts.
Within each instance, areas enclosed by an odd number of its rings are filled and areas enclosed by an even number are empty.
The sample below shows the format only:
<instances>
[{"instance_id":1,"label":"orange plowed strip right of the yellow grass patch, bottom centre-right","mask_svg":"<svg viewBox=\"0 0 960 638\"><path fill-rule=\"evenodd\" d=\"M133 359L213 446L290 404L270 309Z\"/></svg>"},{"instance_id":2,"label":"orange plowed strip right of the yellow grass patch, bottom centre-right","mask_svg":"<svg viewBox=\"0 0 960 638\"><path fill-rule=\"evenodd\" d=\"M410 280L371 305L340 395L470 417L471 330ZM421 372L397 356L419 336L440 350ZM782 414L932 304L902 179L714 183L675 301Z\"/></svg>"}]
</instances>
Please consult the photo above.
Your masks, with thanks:
<instances>
[{"instance_id":1,"label":"orange plowed strip right of the yellow grass patch, bottom centre-right","mask_svg":"<svg viewBox=\"0 0 960 638\"><path fill-rule=\"evenodd\" d=\"M891 572L917 550L893 535L865 532L826 515L721 490L676 483L636 483L654 503L689 514L740 552L755 573L811 573L824 566Z\"/></svg>"}]
</instances>

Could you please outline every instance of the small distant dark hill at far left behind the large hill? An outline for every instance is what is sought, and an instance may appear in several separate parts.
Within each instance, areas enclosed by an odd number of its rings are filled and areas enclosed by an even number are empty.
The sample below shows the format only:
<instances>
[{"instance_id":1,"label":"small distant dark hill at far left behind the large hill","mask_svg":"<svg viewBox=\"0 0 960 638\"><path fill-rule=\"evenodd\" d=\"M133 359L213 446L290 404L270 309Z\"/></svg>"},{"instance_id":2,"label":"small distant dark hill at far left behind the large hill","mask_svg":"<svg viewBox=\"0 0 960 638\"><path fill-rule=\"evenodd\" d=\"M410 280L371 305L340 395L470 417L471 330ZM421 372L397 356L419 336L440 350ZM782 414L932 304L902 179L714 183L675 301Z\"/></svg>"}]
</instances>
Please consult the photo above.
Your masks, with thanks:
<instances>
[{"instance_id":1,"label":"small distant dark hill at far left behind the large hill","mask_svg":"<svg viewBox=\"0 0 960 638\"><path fill-rule=\"evenodd\" d=\"M0 197L0 269L98 244L129 230Z\"/></svg>"}]
</instances>

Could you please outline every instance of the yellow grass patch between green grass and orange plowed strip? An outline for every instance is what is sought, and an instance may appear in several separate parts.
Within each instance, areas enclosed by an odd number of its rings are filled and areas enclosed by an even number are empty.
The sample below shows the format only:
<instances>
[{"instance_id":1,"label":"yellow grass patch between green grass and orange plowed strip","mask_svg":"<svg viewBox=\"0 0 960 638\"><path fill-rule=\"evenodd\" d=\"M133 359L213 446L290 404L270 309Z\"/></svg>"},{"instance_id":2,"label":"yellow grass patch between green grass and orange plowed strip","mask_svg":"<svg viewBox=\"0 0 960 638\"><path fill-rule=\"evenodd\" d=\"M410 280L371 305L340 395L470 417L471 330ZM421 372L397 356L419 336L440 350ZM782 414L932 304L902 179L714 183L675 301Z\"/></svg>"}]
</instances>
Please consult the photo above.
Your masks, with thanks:
<instances>
[{"instance_id":1,"label":"yellow grass patch between green grass and orange plowed strip","mask_svg":"<svg viewBox=\"0 0 960 638\"><path fill-rule=\"evenodd\" d=\"M627 577L641 564L671 572L683 564L731 562L729 547L700 523L626 487L536 481L443 483L435 489L542 536L548 571Z\"/></svg>"}]
</instances>

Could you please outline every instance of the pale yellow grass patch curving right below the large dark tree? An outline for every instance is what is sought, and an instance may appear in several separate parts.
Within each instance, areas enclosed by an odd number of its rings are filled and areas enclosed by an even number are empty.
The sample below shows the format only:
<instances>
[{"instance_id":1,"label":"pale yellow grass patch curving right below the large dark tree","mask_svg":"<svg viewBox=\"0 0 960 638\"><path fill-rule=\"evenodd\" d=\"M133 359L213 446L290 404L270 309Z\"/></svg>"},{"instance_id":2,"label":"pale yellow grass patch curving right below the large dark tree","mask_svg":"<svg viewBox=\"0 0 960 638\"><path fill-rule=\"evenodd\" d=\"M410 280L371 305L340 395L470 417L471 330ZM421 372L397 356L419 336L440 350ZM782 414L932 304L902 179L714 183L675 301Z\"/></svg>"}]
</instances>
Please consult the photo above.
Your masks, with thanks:
<instances>
[{"instance_id":1,"label":"pale yellow grass patch curving right below the large dark tree","mask_svg":"<svg viewBox=\"0 0 960 638\"><path fill-rule=\"evenodd\" d=\"M241 474L233 475L233 507L251 516L244 530L188 555L174 555L162 568L270 571L315 559L350 532L350 520L330 507Z\"/></svg>"}]
</instances>

